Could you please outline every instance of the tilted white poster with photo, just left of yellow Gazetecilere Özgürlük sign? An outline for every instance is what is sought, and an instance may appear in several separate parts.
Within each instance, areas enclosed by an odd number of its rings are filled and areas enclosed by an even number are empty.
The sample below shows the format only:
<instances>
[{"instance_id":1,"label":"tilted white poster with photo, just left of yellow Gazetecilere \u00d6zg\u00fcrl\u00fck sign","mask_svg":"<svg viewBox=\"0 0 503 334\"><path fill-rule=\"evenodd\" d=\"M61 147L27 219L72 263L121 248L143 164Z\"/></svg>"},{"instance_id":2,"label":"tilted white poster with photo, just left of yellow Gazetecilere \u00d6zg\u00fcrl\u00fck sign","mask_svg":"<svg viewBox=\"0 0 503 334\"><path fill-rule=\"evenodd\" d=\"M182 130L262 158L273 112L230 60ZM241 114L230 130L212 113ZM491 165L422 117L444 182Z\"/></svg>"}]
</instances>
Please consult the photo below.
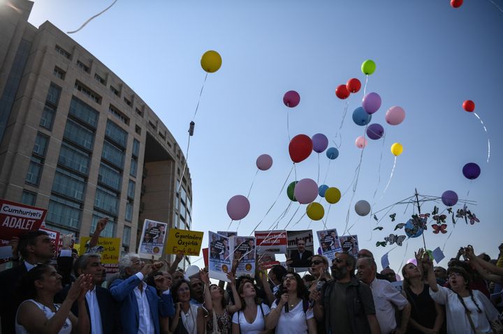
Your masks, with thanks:
<instances>
[{"instance_id":1,"label":"tilted white poster with photo, just left of yellow Gazetecilere \u00d6zg\u00fcrl\u00fck sign","mask_svg":"<svg viewBox=\"0 0 503 334\"><path fill-rule=\"evenodd\" d=\"M152 257L159 259L166 241L166 229L168 229L166 222L145 219L140 245L138 245L138 255L145 259L152 259Z\"/></svg>"}]
</instances>

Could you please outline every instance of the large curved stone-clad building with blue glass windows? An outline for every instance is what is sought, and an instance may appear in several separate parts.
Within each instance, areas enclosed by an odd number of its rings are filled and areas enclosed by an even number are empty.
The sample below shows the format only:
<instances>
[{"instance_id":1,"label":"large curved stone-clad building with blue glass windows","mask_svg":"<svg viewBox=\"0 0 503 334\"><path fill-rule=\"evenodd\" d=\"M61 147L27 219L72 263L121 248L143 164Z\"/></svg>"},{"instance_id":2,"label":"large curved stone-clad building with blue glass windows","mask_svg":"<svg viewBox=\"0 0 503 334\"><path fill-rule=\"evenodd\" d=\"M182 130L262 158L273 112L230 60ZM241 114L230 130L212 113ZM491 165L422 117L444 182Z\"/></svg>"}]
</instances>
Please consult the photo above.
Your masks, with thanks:
<instances>
[{"instance_id":1,"label":"large curved stone-clad building with blue glass windows","mask_svg":"<svg viewBox=\"0 0 503 334\"><path fill-rule=\"evenodd\" d=\"M191 179L168 128L33 2L0 1L0 198L48 208L46 225L135 251L145 218L191 227ZM182 183L180 192L178 185Z\"/></svg>"}]
</instances>

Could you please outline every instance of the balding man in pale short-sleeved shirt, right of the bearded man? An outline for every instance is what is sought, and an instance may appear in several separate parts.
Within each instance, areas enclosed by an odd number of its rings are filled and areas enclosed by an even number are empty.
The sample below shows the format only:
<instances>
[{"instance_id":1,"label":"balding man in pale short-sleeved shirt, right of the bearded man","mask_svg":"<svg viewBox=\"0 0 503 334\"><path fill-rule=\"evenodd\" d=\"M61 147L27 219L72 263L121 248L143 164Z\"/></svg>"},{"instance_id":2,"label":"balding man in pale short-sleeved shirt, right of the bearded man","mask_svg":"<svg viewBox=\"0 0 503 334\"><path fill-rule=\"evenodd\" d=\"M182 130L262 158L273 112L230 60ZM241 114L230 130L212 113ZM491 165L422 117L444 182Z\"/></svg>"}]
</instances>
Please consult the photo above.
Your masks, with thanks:
<instances>
[{"instance_id":1,"label":"balding man in pale short-sleeved shirt, right of the bearded man","mask_svg":"<svg viewBox=\"0 0 503 334\"><path fill-rule=\"evenodd\" d=\"M402 334L407 331L411 305L387 280L376 278L377 265L372 257L360 257L356 262L357 277L368 284L374 297L377 321L381 334ZM397 326L395 307L402 311L400 326Z\"/></svg>"}]
</instances>

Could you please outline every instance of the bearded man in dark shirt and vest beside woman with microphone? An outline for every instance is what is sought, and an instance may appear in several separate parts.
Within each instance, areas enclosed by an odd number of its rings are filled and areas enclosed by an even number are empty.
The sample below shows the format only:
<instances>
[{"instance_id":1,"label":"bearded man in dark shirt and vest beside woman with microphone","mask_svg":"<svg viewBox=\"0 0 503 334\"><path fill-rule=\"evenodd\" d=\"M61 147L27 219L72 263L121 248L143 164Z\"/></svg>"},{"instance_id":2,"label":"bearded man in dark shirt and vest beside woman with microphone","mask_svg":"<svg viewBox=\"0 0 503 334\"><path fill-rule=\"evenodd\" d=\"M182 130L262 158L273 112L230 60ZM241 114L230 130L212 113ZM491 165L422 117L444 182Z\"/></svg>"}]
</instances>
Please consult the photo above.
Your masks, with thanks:
<instances>
[{"instance_id":1,"label":"bearded man in dark shirt and vest beside woman with microphone","mask_svg":"<svg viewBox=\"0 0 503 334\"><path fill-rule=\"evenodd\" d=\"M337 253L332 263L333 280L320 291L312 291L316 321L324 321L332 334L377 334L372 291L354 277L355 258L348 252Z\"/></svg>"}]
</instances>

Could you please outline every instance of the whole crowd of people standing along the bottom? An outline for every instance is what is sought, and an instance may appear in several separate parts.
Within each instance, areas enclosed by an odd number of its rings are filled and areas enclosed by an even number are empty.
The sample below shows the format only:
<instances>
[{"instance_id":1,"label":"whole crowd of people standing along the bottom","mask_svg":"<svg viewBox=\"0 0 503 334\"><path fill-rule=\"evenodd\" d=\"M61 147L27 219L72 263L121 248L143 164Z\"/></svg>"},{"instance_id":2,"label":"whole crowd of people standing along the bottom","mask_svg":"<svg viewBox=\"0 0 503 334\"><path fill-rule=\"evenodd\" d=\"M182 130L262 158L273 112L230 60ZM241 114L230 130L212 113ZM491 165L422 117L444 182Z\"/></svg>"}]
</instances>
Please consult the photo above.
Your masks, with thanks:
<instances>
[{"instance_id":1,"label":"whole crowd of people standing along the bottom","mask_svg":"<svg viewBox=\"0 0 503 334\"><path fill-rule=\"evenodd\" d=\"M205 269L187 277L182 254L173 264L124 255L107 281L93 247L62 251L52 266L45 232L14 244L22 261L0 273L3 334L503 333L503 244L498 259L460 248L448 268L418 250L401 282L363 249L312 255L303 276L258 262L254 278L230 271L217 284Z\"/></svg>"}]
</instances>

